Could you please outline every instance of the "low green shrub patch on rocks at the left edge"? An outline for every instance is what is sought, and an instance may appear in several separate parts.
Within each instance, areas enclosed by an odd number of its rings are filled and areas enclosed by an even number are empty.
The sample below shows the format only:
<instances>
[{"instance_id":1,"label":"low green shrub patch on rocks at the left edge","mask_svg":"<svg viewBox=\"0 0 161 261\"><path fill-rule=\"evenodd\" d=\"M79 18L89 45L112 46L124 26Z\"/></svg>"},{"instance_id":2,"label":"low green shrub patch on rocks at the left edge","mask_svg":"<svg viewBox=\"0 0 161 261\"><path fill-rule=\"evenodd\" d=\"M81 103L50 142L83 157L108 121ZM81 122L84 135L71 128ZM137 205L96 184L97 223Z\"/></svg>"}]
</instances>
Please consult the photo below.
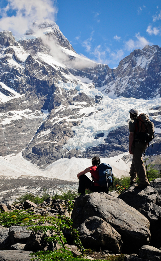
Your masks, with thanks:
<instances>
[{"instance_id":1,"label":"low green shrub patch on rocks at the left edge","mask_svg":"<svg viewBox=\"0 0 161 261\"><path fill-rule=\"evenodd\" d=\"M31 213L24 214L24 210L15 209L12 212L0 212L0 225L4 227L33 225L32 219L37 219L37 216Z\"/></svg>"}]
</instances>

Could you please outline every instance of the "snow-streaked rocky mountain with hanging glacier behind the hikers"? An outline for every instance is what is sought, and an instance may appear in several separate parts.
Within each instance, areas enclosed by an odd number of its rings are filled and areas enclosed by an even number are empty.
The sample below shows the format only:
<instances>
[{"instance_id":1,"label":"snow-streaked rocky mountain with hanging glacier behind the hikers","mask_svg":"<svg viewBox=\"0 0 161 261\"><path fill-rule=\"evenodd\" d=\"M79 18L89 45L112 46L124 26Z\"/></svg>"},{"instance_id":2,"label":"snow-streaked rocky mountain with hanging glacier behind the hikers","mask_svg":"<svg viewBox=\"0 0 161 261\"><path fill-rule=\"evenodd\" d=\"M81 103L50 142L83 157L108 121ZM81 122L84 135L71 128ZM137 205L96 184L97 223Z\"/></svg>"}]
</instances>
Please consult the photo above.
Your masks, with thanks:
<instances>
[{"instance_id":1,"label":"snow-streaked rocky mountain with hanging glacier behind the hikers","mask_svg":"<svg viewBox=\"0 0 161 261\"><path fill-rule=\"evenodd\" d=\"M160 64L161 48L145 46L110 69L77 54L55 23L23 36L2 31L0 155L23 151L40 169L63 158L117 157L128 151L133 107L156 127L147 153L160 154Z\"/></svg>"}]
</instances>

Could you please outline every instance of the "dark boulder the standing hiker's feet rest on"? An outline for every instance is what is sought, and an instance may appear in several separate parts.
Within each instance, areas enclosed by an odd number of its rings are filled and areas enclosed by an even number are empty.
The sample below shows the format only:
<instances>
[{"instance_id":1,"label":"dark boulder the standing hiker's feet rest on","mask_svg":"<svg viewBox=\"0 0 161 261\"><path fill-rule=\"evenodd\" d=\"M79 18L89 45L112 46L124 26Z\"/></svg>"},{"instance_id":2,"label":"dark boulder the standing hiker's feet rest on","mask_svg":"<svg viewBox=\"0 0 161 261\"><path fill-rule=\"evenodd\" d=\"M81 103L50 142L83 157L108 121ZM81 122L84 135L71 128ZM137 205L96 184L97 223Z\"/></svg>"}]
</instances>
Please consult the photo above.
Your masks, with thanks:
<instances>
[{"instance_id":1,"label":"dark boulder the standing hiker's feet rest on","mask_svg":"<svg viewBox=\"0 0 161 261\"><path fill-rule=\"evenodd\" d=\"M160 247L161 240L161 195L151 186L137 189L136 184L122 192L118 198L137 209L150 221L151 244Z\"/></svg>"}]
</instances>

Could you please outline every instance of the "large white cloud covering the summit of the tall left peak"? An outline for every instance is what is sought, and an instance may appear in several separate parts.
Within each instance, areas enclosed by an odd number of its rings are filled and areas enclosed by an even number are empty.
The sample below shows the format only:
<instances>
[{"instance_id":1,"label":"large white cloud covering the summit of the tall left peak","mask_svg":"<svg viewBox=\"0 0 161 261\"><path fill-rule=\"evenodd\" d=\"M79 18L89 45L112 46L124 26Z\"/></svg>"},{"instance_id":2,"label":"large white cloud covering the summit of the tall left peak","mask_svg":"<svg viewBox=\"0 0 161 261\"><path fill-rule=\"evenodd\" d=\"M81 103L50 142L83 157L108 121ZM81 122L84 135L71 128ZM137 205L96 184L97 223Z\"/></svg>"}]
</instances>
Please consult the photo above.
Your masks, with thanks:
<instances>
[{"instance_id":1,"label":"large white cloud covering the summit of the tall left peak","mask_svg":"<svg viewBox=\"0 0 161 261\"><path fill-rule=\"evenodd\" d=\"M14 35L24 34L25 31L37 22L50 22L55 19L57 8L51 0L8 0L7 7L0 9L0 30L10 30ZM8 11L15 11L16 15L7 16Z\"/></svg>"}]
</instances>

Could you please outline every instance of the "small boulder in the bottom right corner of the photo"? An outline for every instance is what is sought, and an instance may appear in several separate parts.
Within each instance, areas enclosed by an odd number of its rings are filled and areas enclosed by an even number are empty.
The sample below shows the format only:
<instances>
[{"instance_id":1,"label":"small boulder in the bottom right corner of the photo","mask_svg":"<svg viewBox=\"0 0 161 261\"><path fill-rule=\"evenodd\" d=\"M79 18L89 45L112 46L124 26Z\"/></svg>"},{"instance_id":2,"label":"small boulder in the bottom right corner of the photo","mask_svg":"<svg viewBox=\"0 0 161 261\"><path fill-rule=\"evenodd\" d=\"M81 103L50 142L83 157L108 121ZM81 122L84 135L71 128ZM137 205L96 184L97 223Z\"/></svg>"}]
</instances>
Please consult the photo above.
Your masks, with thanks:
<instances>
[{"instance_id":1,"label":"small boulder in the bottom right corner of the photo","mask_svg":"<svg viewBox=\"0 0 161 261\"><path fill-rule=\"evenodd\" d=\"M141 249L139 249L139 257L150 261L160 261L161 251L151 245L143 245Z\"/></svg>"}]
</instances>

